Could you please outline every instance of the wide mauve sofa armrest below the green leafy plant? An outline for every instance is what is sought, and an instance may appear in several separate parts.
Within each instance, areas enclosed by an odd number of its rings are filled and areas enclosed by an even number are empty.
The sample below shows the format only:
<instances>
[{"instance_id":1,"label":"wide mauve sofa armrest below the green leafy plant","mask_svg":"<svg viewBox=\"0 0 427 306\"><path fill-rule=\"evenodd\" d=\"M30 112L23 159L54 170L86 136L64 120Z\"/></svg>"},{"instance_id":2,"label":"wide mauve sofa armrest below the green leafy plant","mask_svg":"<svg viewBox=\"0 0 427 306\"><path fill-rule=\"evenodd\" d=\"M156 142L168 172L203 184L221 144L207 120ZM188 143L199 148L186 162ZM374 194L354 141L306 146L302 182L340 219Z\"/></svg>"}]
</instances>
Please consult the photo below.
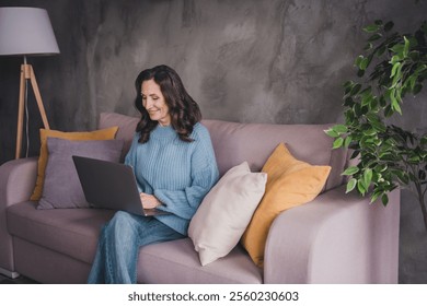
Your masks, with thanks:
<instances>
[{"instance_id":1,"label":"wide mauve sofa armrest below the green leafy plant","mask_svg":"<svg viewBox=\"0 0 427 306\"><path fill-rule=\"evenodd\" d=\"M389 204L345 186L282 212L268 234L265 283L396 283L400 190Z\"/></svg>"}]
</instances>

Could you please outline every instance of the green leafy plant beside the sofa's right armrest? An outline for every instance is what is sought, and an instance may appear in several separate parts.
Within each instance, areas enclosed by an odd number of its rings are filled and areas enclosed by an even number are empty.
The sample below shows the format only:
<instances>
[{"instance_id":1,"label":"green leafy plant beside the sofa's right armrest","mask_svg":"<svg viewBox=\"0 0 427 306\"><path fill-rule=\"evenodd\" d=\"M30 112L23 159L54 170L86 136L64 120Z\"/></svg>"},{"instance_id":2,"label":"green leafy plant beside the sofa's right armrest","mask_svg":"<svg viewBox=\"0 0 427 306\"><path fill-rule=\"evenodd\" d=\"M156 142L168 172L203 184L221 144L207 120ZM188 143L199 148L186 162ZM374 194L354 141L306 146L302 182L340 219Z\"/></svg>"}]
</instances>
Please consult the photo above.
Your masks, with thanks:
<instances>
[{"instance_id":1,"label":"green leafy plant beside the sofa's right armrest","mask_svg":"<svg viewBox=\"0 0 427 306\"><path fill-rule=\"evenodd\" d=\"M325 132L335 138L334 149L354 150L357 163L343 173L349 176L347 192L356 189L386 205L390 191L408 188L427 231L427 134L389 123L402 115L403 99L417 95L427 79L427 23L414 34L393 32L393 26L379 20L363 28L369 37L355 60L360 81L344 84L345 123Z\"/></svg>"}]
</instances>

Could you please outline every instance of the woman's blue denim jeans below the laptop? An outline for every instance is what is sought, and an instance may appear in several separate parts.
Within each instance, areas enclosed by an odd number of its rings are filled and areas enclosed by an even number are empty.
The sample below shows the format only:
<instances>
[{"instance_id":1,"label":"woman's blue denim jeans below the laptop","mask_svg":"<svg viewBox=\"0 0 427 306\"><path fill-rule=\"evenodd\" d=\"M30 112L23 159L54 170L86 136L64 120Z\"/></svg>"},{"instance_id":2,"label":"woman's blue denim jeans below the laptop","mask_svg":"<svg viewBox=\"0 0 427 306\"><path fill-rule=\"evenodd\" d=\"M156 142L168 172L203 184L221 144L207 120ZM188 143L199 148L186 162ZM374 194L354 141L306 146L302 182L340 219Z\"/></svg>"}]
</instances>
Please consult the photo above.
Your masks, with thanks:
<instances>
[{"instance_id":1,"label":"woman's blue denim jeans below the laptop","mask_svg":"<svg viewBox=\"0 0 427 306\"><path fill-rule=\"evenodd\" d=\"M88 283L135 284L139 247L184 237L154 217L118 211L101 231Z\"/></svg>"}]
</instances>

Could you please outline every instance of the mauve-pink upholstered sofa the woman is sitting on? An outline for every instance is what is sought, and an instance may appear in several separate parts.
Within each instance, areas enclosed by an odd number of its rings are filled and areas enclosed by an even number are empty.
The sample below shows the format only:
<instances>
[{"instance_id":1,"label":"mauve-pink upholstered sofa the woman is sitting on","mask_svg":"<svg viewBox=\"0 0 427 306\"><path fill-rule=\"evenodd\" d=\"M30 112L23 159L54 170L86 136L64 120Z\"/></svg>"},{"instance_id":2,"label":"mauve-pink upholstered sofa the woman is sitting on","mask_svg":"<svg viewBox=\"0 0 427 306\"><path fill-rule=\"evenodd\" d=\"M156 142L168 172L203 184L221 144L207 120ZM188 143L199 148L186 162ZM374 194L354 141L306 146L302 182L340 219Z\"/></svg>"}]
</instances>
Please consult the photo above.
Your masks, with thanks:
<instances>
[{"instance_id":1,"label":"mauve-pink upholstered sofa the woman is sitting on","mask_svg":"<svg viewBox=\"0 0 427 306\"><path fill-rule=\"evenodd\" d=\"M130 145L138 118L100 115L99 128L118 126ZM238 244L201 266L191 238L142 247L138 283L396 283L400 191L388 207L346 193L348 152L332 150L331 125L266 125L204 120L220 175L246 161L259 172L278 143L312 165L332 170L312 201L281 212L273 222L258 268ZM114 214L100 209L37 210L31 201L37 157L0 166L0 273L39 283L84 283L102 225Z\"/></svg>"}]
</instances>

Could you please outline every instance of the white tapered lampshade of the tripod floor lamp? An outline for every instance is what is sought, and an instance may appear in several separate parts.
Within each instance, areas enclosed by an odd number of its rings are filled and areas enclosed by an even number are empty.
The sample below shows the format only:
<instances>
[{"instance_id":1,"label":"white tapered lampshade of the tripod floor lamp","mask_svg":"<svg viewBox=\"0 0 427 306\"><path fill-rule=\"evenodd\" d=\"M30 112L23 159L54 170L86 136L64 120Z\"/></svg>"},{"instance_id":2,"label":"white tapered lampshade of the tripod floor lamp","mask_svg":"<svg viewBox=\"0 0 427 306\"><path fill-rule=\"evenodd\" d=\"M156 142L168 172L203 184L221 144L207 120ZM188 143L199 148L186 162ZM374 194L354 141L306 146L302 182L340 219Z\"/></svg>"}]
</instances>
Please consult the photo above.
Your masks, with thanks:
<instances>
[{"instance_id":1,"label":"white tapered lampshade of the tripod floor lamp","mask_svg":"<svg viewBox=\"0 0 427 306\"><path fill-rule=\"evenodd\" d=\"M59 54L44 9L0 8L0 56Z\"/></svg>"}]
</instances>

